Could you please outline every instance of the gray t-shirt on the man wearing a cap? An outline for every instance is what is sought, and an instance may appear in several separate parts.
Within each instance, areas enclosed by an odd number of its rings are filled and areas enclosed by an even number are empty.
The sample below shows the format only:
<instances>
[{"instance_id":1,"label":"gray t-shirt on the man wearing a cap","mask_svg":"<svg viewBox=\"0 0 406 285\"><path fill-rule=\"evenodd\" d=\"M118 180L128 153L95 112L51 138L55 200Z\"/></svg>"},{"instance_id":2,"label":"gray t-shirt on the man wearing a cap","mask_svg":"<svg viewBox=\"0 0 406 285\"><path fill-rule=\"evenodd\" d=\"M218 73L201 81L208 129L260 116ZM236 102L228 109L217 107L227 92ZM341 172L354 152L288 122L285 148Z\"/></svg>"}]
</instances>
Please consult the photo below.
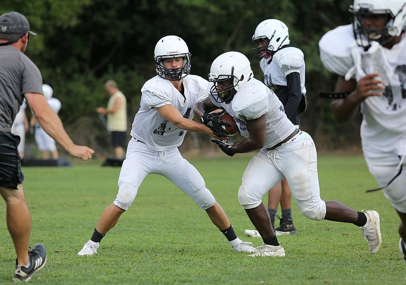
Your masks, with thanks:
<instances>
[{"instance_id":1,"label":"gray t-shirt on the man wearing a cap","mask_svg":"<svg viewBox=\"0 0 406 285\"><path fill-rule=\"evenodd\" d=\"M13 46L0 47L0 131L11 131L25 93L43 94L40 69Z\"/></svg>"}]
</instances>

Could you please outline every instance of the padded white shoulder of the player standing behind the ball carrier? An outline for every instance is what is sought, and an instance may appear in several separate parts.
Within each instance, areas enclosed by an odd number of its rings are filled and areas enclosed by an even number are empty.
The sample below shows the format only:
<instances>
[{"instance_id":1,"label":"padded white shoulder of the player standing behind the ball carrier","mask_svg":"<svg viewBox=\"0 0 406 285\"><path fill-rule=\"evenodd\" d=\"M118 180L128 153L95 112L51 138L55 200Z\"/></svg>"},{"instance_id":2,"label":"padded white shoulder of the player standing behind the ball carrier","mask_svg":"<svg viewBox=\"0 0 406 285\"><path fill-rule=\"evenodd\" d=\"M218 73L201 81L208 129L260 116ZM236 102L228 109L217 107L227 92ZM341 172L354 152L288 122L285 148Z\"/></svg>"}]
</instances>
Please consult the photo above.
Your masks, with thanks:
<instances>
[{"instance_id":1,"label":"padded white shoulder of the player standing behind the ball carrier","mask_svg":"<svg viewBox=\"0 0 406 285\"><path fill-rule=\"evenodd\" d=\"M304 55L301 50L294 47L287 47L277 51L272 59L282 70L285 77L293 72L300 72L304 65Z\"/></svg>"}]
</instances>

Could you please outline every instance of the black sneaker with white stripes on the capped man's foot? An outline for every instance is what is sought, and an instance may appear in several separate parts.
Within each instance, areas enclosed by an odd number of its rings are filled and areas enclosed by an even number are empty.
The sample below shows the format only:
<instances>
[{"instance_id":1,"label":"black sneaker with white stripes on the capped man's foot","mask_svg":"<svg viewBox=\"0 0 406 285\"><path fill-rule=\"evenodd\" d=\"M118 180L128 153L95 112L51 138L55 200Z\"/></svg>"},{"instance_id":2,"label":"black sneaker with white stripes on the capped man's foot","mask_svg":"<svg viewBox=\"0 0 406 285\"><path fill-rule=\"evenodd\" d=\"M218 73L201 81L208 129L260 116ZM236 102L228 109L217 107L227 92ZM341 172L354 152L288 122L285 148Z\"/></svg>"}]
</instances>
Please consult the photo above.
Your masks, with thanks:
<instances>
[{"instance_id":1,"label":"black sneaker with white stripes on the capped man's foot","mask_svg":"<svg viewBox=\"0 0 406 285\"><path fill-rule=\"evenodd\" d=\"M45 246L41 243L34 245L32 250L28 252L30 266L28 268L18 265L16 260L16 274L13 277L14 281L28 282L32 274L42 269L47 262L47 251Z\"/></svg>"}]
</instances>

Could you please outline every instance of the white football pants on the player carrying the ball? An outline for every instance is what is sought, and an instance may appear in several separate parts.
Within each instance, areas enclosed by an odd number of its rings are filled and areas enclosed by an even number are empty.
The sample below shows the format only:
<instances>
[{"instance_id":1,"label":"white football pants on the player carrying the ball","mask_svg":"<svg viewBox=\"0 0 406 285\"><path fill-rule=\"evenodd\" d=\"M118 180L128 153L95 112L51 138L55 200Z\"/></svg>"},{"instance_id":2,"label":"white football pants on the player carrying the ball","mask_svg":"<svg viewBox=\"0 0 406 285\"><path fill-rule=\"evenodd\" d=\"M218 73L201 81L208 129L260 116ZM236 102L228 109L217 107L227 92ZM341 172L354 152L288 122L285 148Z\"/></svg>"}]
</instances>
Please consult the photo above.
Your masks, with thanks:
<instances>
[{"instance_id":1,"label":"white football pants on the player carrying the ball","mask_svg":"<svg viewBox=\"0 0 406 285\"><path fill-rule=\"evenodd\" d=\"M326 203L320 198L316 147L304 131L275 150L260 150L251 159L238 193L240 204L245 209L257 207L266 192L284 178L302 214L312 220L324 219Z\"/></svg>"}]
</instances>

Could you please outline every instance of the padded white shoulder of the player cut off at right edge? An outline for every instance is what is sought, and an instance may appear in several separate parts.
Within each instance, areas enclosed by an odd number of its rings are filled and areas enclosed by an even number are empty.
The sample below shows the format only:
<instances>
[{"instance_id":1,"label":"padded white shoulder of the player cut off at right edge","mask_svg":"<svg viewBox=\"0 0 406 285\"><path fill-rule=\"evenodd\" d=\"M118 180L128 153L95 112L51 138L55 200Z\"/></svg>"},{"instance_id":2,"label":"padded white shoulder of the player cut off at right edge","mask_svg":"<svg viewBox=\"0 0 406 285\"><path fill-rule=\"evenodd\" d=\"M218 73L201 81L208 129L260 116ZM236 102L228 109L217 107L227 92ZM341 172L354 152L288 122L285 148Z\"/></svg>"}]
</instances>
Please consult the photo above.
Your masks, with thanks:
<instances>
[{"instance_id":1,"label":"padded white shoulder of the player cut off at right edge","mask_svg":"<svg viewBox=\"0 0 406 285\"><path fill-rule=\"evenodd\" d=\"M352 25L339 26L325 33L319 41L320 59L332 73L345 76L354 66L351 49L356 43Z\"/></svg>"}]
</instances>

